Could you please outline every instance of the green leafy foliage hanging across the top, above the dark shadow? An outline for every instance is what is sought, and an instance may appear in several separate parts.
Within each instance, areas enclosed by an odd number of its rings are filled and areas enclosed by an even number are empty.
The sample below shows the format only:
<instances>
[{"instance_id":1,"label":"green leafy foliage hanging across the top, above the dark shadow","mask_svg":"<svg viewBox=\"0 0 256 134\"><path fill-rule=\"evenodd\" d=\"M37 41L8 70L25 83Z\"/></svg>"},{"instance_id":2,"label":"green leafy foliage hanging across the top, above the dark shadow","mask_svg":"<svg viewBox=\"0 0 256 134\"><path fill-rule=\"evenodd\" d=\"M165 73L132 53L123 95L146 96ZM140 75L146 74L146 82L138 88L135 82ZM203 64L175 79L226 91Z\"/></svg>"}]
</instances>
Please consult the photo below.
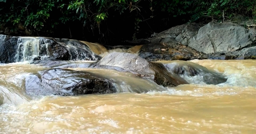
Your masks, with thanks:
<instances>
[{"instance_id":1,"label":"green leafy foliage hanging across the top, above the dark shadow","mask_svg":"<svg viewBox=\"0 0 256 134\"><path fill-rule=\"evenodd\" d=\"M234 14L256 20L256 0L0 0L0 11L1 24L22 24L42 32L75 21L99 28L109 16L131 14L136 39L139 22L159 14L163 14L163 20L181 16L184 21L208 17L221 21Z\"/></svg>"}]
</instances>

